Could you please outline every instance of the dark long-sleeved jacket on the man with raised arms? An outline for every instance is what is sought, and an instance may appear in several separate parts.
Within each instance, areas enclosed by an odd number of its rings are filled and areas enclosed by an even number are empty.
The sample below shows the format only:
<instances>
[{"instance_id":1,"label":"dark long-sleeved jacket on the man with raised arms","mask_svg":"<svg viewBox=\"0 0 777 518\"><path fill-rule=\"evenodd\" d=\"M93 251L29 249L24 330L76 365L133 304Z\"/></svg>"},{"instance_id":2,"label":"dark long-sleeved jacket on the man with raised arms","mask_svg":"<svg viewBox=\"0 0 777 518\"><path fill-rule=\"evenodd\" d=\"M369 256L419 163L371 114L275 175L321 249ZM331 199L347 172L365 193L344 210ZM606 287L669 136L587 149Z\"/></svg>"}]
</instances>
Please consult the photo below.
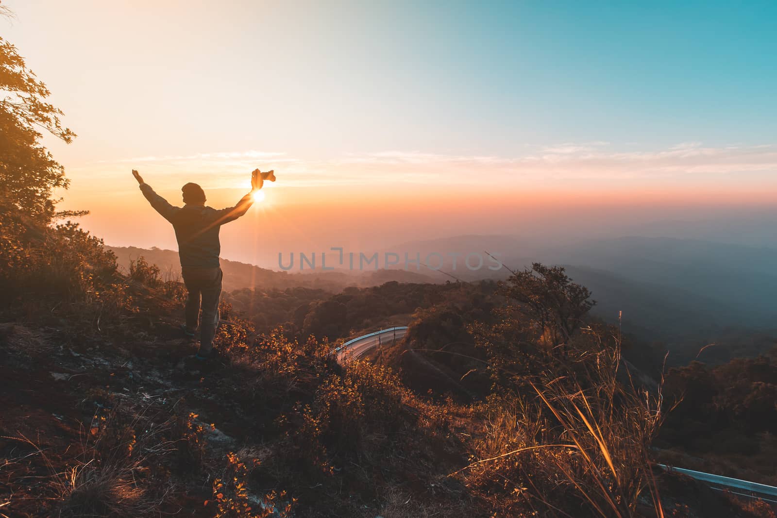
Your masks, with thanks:
<instances>
[{"instance_id":1,"label":"dark long-sleeved jacket on the man with raised arms","mask_svg":"<svg viewBox=\"0 0 777 518\"><path fill-rule=\"evenodd\" d=\"M218 255L221 253L219 228L246 214L253 203L251 195L246 194L235 207L221 210L190 203L174 207L146 183L141 184L141 191L148 203L172 223L183 268L218 268Z\"/></svg>"}]
</instances>

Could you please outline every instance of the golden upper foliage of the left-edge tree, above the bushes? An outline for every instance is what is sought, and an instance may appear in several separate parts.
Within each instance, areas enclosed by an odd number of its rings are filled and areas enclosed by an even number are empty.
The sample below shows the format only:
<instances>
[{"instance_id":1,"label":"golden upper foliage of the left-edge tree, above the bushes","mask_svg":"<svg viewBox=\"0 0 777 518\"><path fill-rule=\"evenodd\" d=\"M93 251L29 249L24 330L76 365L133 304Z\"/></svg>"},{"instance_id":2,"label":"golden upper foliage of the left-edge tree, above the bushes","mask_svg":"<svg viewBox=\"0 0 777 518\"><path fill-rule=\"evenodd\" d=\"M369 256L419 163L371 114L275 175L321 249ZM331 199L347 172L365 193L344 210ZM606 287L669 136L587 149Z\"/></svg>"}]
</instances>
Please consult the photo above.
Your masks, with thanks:
<instances>
[{"instance_id":1,"label":"golden upper foliage of the left-edge tree, above the bushes","mask_svg":"<svg viewBox=\"0 0 777 518\"><path fill-rule=\"evenodd\" d=\"M62 111L46 102L51 92L0 37L0 194L37 221L54 217L54 189L67 188L64 168L41 144L42 131L70 143ZM69 213L68 213L69 214ZM64 214L64 215L68 215Z\"/></svg>"}]
</instances>

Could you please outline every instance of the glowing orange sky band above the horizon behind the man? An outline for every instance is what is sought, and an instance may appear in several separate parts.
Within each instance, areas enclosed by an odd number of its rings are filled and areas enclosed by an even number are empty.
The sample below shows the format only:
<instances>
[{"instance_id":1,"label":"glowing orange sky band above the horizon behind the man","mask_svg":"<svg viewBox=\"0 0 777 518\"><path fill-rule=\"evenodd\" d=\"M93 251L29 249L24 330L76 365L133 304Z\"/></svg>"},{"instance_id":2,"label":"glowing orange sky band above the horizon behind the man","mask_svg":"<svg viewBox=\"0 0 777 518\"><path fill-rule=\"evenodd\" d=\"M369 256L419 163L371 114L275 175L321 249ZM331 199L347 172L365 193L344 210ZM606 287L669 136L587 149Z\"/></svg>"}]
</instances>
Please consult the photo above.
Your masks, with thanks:
<instances>
[{"instance_id":1,"label":"glowing orange sky band above the horizon behind the man","mask_svg":"<svg viewBox=\"0 0 777 518\"><path fill-rule=\"evenodd\" d=\"M126 185L85 195L76 187L66 207L87 208L85 228L109 245L158 246L176 249L172 228L148 205L131 178ZM222 228L222 256L277 267L277 254L320 252L332 246L371 252L416 239L454 235L521 235L524 237L617 235L650 223L717 214L723 207L774 207L774 191L738 192L696 189L501 189L493 186L284 186L282 170L266 198L240 220ZM180 192L169 182L146 176L148 183L173 204ZM176 184L177 185L177 184ZM208 204L226 207L247 189L206 189ZM86 191L88 192L88 191ZM697 208L699 210L697 210ZM615 232L615 234L613 234ZM629 233L628 231L624 231Z\"/></svg>"}]
</instances>

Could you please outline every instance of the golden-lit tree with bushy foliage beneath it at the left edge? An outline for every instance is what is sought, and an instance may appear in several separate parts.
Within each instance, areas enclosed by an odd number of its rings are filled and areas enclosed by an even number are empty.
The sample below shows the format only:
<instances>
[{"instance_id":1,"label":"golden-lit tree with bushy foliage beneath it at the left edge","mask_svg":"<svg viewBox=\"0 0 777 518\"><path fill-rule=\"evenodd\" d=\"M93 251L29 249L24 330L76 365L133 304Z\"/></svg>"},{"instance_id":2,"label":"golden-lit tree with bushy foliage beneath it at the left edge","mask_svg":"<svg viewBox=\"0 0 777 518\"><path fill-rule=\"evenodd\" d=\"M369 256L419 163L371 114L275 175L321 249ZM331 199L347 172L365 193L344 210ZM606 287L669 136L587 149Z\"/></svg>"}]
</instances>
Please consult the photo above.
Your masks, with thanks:
<instances>
[{"instance_id":1,"label":"golden-lit tree with bushy foliage beneath it at the left edge","mask_svg":"<svg viewBox=\"0 0 777 518\"><path fill-rule=\"evenodd\" d=\"M0 6L0 16L11 16ZM39 304L122 304L116 258L103 242L54 217L54 189L67 188L64 168L41 143L44 132L64 142L75 134L61 124L61 110L47 103L51 92L27 68L11 43L0 37L0 308L25 298ZM110 300L109 300L110 299Z\"/></svg>"}]
</instances>

